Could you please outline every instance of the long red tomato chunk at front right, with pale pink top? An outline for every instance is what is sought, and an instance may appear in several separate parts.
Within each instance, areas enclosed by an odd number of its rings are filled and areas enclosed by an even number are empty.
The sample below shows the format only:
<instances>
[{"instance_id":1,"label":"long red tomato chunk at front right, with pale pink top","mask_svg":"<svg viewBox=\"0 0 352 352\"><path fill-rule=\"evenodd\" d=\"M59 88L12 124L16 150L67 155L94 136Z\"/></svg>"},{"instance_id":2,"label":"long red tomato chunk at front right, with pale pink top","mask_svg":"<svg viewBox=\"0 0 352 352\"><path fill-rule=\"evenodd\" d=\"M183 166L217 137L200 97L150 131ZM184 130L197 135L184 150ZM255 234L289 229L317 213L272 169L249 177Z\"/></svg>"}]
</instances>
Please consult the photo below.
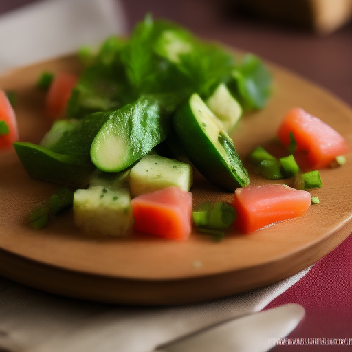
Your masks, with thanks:
<instances>
[{"instance_id":1,"label":"long red tomato chunk at front right, with pale pink top","mask_svg":"<svg viewBox=\"0 0 352 352\"><path fill-rule=\"evenodd\" d=\"M283 184L248 186L234 192L234 225L249 234L267 225L300 217L311 205L311 195Z\"/></svg>"}]
</instances>

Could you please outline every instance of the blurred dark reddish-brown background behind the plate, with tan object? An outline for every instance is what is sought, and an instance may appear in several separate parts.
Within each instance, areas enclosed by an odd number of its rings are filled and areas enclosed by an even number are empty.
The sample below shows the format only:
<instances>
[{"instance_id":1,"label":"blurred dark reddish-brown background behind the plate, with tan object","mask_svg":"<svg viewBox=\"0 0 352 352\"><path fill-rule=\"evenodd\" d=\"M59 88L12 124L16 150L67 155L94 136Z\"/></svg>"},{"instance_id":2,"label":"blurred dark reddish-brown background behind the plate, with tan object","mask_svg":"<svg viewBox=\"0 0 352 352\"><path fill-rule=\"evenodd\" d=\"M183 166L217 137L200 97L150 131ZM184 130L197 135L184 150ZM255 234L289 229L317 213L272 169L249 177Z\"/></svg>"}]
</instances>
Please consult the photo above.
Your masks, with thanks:
<instances>
[{"instance_id":1,"label":"blurred dark reddish-brown background behind the plate, with tan object","mask_svg":"<svg viewBox=\"0 0 352 352\"><path fill-rule=\"evenodd\" d=\"M35 2L0 0L0 15ZM119 2L127 32L151 12L291 69L352 106L352 0Z\"/></svg>"}]
</instances>

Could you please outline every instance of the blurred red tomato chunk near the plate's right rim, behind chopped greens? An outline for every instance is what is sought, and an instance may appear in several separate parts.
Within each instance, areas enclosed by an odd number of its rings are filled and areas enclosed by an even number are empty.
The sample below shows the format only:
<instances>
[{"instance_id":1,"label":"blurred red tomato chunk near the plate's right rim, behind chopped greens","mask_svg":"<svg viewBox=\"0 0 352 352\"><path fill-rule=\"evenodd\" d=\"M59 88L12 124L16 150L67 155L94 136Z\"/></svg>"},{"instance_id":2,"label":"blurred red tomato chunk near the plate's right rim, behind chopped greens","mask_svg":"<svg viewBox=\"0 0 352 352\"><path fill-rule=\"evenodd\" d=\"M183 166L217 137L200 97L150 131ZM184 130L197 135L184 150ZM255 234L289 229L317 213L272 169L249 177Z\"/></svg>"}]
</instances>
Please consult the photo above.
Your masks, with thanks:
<instances>
[{"instance_id":1,"label":"blurred red tomato chunk near the plate's right rim, behind chopped greens","mask_svg":"<svg viewBox=\"0 0 352 352\"><path fill-rule=\"evenodd\" d=\"M299 107L289 110L278 129L278 137L285 146L289 146L291 131L297 142L296 160L306 170L325 168L336 157L349 152L340 133Z\"/></svg>"}]
</instances>

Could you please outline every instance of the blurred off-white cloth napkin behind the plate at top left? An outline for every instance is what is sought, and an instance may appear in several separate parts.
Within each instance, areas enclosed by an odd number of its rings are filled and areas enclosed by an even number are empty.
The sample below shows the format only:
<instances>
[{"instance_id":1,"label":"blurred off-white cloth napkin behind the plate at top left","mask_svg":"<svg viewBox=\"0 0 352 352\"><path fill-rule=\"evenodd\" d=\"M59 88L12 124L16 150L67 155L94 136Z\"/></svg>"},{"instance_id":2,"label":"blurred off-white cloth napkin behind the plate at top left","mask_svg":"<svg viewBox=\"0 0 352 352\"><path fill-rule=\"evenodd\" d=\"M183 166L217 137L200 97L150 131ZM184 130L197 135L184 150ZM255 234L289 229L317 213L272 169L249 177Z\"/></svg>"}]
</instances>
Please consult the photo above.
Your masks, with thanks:
<instances>
[{"instance_id":1,"label":"blurred off-white cloth napkin behind the plate at top left","mask_svg":"<svg viewBox=\"0 0 352 352\"><path fill-rule=\"evenodd\" d=\"M0 72L126 34L117 0L47 0L0 16Z\"/></svg>"}]
</instances>

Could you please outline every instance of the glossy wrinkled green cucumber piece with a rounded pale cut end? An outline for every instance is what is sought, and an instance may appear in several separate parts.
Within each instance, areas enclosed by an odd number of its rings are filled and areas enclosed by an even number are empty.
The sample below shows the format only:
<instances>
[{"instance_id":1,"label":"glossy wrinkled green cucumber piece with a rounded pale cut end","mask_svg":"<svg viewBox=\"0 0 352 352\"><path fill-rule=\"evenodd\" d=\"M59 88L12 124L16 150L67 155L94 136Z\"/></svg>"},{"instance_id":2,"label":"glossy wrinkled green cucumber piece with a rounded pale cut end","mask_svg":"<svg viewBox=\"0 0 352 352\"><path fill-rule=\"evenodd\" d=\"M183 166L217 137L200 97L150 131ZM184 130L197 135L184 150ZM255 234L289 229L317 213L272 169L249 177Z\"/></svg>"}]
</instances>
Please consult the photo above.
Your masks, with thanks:
<instances>
[{"instance_id":1,"label":"glossy wrinkled green cucumber piece with a rounded pale cut end","mask_svg":"<svg viewBox=\"0 0 352 352\"><path fill-rule=\"evenodd\" d=\"M160 95L113 111L91 144L91 161L106 172L129 167L166 138L174 109L174 98Z\"/></svg>"}]
</instances>

